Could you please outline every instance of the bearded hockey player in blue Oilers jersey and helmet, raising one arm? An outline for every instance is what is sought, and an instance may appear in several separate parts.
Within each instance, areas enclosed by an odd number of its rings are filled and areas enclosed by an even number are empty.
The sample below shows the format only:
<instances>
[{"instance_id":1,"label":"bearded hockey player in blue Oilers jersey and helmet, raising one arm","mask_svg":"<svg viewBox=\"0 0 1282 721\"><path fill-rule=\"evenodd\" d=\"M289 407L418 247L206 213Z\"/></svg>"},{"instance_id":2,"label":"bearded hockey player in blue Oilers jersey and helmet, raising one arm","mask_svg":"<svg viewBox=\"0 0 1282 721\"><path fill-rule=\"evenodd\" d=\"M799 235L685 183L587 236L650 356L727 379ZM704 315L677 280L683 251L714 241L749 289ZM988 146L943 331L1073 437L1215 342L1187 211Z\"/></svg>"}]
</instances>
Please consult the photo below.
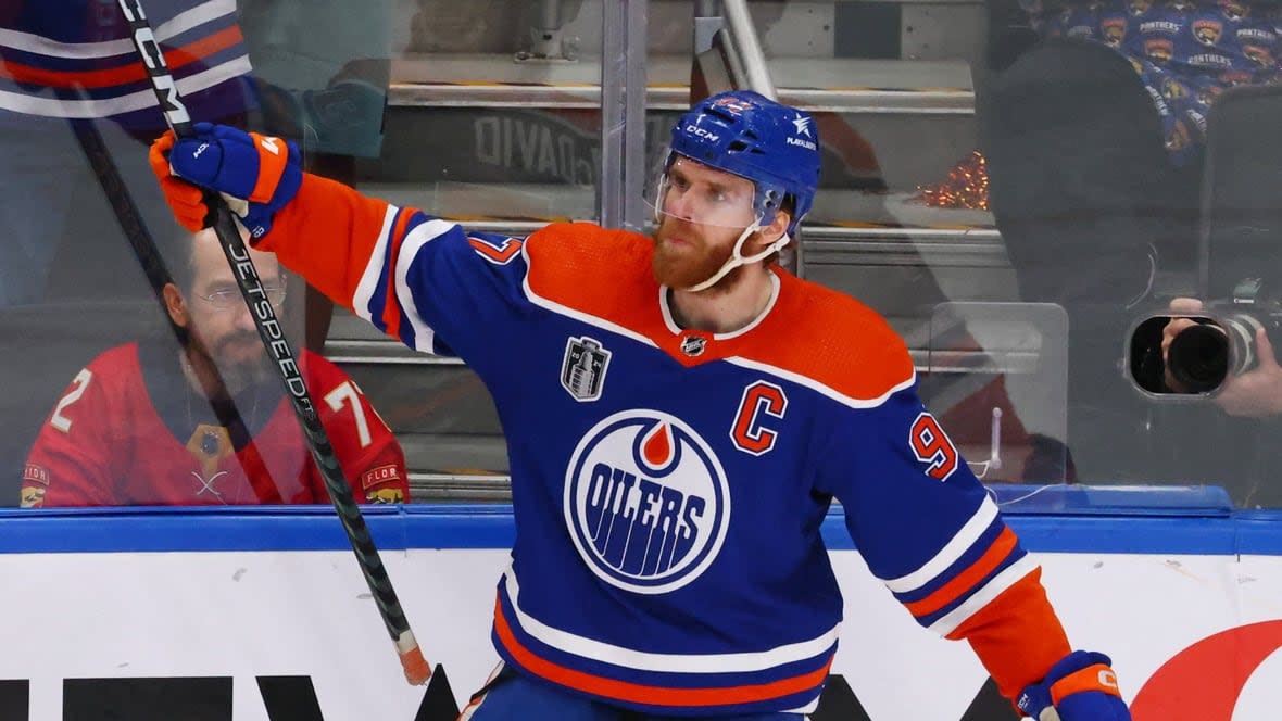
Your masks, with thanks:
<instances>
[{"instance_id":1,"label":"bearded hockey player in blue Oilers jersey and helmet, raising one arm","mask_svg":"<svg viewBox=\"0 0 1282 721\"><path fill-rule=\"evenodd\" d=\"M504 668L465 718L801 718L841 620L819 535L833 498L872 571L1023 713L1129 718L1108 657L1072 651L1037 563L922 407L903 341L769 264L818 183L805 113L751 92L691 109L653 238L470 233L305 175L272 138L197 134L151 152L183 224L208 213L196 184L247 198L259 247L463 359L495 398L518 535Z\"/></svg>"}]
</instances>

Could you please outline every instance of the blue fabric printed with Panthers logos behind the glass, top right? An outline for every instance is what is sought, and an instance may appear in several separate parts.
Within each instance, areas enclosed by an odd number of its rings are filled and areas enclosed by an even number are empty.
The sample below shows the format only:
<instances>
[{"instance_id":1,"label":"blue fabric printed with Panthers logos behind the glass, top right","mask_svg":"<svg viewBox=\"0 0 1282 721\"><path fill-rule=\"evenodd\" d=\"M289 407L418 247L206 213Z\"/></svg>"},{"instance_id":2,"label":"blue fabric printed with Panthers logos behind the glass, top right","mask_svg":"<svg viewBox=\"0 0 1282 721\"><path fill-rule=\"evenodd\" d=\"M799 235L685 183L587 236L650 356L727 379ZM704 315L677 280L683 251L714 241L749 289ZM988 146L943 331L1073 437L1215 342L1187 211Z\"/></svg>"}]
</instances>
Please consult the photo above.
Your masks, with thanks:
<instances>
[{"instance_id":1,"label":"blue fabric printed with Panthers logos behind the glass, top right","mask_svg":"<svg viewBox=\"0 0 1282 721\"><path fill-rule=\"evenodd\" d=\"M1042 37L1105 44L1128 60L1161 118L1170 161L1200 159L1206 113L1238 85L1278 78L1278 3L1020 0Z\"/></svg>"}]
</instances>

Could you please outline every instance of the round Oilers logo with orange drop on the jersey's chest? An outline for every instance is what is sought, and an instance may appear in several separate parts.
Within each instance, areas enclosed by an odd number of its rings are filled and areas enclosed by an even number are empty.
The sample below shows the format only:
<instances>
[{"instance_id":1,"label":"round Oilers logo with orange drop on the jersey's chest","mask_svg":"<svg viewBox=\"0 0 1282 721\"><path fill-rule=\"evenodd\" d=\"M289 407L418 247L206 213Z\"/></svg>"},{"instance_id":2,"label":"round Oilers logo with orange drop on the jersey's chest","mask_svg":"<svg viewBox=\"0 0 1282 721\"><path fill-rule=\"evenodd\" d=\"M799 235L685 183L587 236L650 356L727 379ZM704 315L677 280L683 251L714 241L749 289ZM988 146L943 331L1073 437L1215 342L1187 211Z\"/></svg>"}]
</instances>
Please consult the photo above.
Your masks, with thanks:
<instances>
[{"instance_id":1,"label":"round Oilers logo with orange drop on the jersey's chest","mask_svg":"<svg viewBox=\"0 0 1282 721\"><path fill-rule=\"evenodd\" d=\"M565 471L565 524L587 566L633 593L668 593L717 558L729 485L708 443L653 410L614 414L579 441Z\"/></svg>"}]
</instances>

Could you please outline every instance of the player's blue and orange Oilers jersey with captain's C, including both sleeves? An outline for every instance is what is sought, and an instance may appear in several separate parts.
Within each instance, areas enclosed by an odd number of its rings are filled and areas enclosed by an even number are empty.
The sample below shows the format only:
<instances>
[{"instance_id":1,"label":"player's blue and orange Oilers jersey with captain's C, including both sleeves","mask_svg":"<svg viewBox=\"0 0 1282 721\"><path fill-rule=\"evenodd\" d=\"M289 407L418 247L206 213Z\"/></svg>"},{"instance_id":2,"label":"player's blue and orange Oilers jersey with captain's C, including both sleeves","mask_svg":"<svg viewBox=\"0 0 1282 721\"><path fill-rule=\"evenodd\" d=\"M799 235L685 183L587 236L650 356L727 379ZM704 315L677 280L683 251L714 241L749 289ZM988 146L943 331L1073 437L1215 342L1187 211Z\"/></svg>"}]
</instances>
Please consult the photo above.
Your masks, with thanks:
<instances>
[{"instance_id":1,"label":"player's blue and orange Oilers jersey with captain's C, including both sleeves","mask_svg":"<svg viewBox=\"0 0 1282 721\"><path fill-rule=\"evenodd\" d=\"M310 175L260 247L486 383L517 521L494 642L518 670L647 713L814 709L842 613L833 498L873 574L1008 695L1068 653L904 343L853 298L776 269L754 323L686 330L650 238L469 233Z\"/></svg>"}]
</instances>

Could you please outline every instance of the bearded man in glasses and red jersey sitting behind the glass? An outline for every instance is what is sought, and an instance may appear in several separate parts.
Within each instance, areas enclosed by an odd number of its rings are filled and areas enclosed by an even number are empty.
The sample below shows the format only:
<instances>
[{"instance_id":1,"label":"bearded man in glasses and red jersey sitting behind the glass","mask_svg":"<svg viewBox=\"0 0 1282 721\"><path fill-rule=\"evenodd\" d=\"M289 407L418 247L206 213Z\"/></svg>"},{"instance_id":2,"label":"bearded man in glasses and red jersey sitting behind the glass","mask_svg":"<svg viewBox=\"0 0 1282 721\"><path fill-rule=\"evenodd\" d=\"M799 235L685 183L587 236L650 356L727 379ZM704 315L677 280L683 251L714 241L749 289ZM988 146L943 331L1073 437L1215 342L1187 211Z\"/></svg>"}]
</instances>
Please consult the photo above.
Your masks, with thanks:
<instances>
[{"instance_id":1,"label":"bearded man in glasses and red jersey sitting behind the glass","mask_svg":"<svg viewBox=\"0 0 1282 721\"><path fill-rule=\"evenodd\" d=\"M164 288L185 348L127 343L81 370L31 450L22 506L329 502L218 238L188 247ZM279 265L251 252L278 306ZM365 396L320 356L300 365L356 501L404 501L404 455Z\"/></svg>"}]
</instances>

